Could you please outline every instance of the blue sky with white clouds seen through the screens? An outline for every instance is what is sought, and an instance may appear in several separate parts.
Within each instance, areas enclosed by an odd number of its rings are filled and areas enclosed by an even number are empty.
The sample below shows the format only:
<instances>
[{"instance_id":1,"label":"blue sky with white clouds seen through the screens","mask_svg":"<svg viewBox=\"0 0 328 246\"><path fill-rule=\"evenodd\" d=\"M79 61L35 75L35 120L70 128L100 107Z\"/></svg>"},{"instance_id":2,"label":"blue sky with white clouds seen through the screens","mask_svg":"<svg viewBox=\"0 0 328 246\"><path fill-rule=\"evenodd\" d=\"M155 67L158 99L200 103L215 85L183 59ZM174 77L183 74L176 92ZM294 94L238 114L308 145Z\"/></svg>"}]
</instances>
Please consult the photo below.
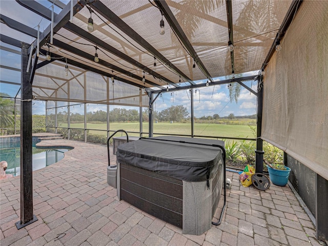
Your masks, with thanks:
<instances>
[{"instance_id":1,"label":"blue sky with white clouds seen through the screens","mask_svg":"<svg viewBox=\"0 0 328 246\"><path fill-rule=\"evenodd\" d=\"M51 3L48 1L40 0L37 1L42 3L46 7L50 8ZM64 1L63 1L64 2ZM67 1L66 1L67 2ZM40 31L43 31L48 25L49 21L40 17L39 15L33 14L31 11L26 11L26 9L20 6L14 0L1 0L0 1L0 9L1 14L11 17L18 22L22 22L27 26L33 27L36 29L36 26L40 25ZM17 14L17 11L20 14ZM59 12L59 9L55 7L55 12ZM23 14L24 13L24 14ZM2 35L11 36L18 40L23 40L27 43L32 43L32 38L19 33L15 30L10 29L5 24L0 24L0 30ZM19 50L13 46L1 43L1 46L9 47L15 50ZM0 63L2 66L9 66L16 69L20 69L20 55L14 54L5 50L0 50ZM256 74L253 72L252 74ZM250 75L250 74L248 74ZM224 79L224 78L222 78ZM8 70L5 68L0 68L0 81L10 81L14 83L20 83L20 72ZM214 80L219 80L219 78L214 78ZM195 81L196 84L198 83L206 83L206 81ZM256 82L247 82L245 83L247 86L251 87L254 91L256 91ZM19 86L18 85L10 85L0 83L0 91L3 93L8 93L10 96L14 97L18 92L18 97L20 96L19 93ZM228 116L230 113L234 115L253 115L256 114L256 96L250 93L245 88L241 87L240 96L238 98L238 103L233 101L230 102L229 99L229 90L227 85L216 85L216 86L209 86L204 88L197 89L195 93L194 90L194 115L196 117L201 116L209 116L213 114L219 114L220 116ZM190 112L190 92L187 91L177 91L162 93L161 97L158 97L154 104L154 110L161 111L172 105L182 105L187 108ZM110 110L114 106L110 106ZM122 107L122 106L115 106L119 108L126 108L126 109L134 109L133 107ZM79 109L78 109L79 108ZM101 105L89 105L88 111L97 111L97 110L104 110L106 107ZM136 108L138 109L138 108ZM72 111L72 110L71 110ZM74 110L78 113L83 113L83 107L76 107ZM44 101L33 101L33 114L45 114L45 102Z\"/></svg>"}]
</instances>

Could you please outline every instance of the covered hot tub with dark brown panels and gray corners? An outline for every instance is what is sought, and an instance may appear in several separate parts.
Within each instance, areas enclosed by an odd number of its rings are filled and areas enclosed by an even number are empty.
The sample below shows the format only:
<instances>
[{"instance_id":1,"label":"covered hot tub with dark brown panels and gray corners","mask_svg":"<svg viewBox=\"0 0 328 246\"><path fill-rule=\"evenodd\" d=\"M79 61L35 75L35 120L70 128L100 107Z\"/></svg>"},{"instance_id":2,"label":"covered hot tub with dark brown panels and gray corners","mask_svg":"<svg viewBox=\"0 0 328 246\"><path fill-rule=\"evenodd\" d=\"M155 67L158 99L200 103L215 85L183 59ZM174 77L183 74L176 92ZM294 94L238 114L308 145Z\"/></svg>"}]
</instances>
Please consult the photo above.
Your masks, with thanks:
<instances>
[{"instance_id":1,"label":"covered hot tub with dark brown panels and gray corners","mask_svg":"<svg viewBox=\"0 0 328 246\"><path fill-rule=\"evenodd\" d=\"M211 228L223 186L223 141L155 137L117 148L117 196L200 235Z\"/></svg>"}]
</instances>

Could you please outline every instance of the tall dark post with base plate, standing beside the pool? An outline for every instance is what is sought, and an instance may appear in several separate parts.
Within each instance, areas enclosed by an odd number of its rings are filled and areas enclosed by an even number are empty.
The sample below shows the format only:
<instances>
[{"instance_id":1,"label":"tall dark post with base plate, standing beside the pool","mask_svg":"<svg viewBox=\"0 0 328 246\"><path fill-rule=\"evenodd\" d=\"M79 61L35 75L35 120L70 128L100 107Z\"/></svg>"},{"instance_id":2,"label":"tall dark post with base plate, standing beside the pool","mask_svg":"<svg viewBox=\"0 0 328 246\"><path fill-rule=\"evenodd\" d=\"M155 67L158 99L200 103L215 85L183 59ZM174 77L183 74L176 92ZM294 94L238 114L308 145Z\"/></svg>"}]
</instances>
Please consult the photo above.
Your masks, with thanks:
<instances>
[{"instance_id":1,"label":"tall dark post with base plate, standing beside the pool","mask_svg":"<svg viewBox=\"0 0 328 246\"><path fill-rule=\"evenodd\" d=\"M20 113L20 221L17 229L37 220L33 215L32 187L32 83L26 72L29 45L22 44L22 103ZM31 69L30 69L31 70Z\"/></svg>"}]
</instances>

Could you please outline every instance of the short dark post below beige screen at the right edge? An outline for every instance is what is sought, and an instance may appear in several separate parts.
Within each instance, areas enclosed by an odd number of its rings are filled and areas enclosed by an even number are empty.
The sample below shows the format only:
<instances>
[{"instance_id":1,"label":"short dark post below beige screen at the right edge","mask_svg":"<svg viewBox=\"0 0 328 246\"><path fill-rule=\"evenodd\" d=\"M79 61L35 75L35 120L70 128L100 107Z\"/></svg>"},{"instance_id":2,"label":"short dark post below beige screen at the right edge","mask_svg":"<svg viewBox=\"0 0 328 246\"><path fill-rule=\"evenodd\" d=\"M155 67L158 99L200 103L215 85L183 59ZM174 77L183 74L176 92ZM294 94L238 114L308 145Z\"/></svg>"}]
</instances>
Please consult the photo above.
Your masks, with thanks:
<instances>
[{"instance_id":1,"label":"short dark post below beige screen at the right edge","mask_svg":"<svg viewBox=\"0 0 328 246\"><path fill-rule=\"evenodd\" d=\"M316 232L319 240L328 242L328 180L316 174Z\"/></svg>"}]
</instances>

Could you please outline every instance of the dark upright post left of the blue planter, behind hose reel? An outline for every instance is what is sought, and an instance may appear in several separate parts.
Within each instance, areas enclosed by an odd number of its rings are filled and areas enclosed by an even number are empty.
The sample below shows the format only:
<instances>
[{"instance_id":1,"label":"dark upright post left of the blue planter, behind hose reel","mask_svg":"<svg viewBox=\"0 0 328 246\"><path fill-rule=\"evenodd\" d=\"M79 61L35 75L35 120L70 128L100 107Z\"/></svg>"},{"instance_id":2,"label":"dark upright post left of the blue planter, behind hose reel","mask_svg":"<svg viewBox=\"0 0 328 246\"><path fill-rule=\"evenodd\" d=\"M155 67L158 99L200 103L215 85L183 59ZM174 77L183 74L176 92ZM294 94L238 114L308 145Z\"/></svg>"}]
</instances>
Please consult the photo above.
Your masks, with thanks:
<instances>
[{"instance_id":1,"label":"dark upright post left of the blue planter, behind hose reel","mask_svg":"<svg viewBox=\"0 0 328 246\"><path fill-rule=\"evenodd\" d=\"M256 159L255 172L263 173L263 140L261 139L262 131L262 106L263 106L263 77L260 76L257 87L257 134L256 134Z\"/></svg>"}]
</instances>

